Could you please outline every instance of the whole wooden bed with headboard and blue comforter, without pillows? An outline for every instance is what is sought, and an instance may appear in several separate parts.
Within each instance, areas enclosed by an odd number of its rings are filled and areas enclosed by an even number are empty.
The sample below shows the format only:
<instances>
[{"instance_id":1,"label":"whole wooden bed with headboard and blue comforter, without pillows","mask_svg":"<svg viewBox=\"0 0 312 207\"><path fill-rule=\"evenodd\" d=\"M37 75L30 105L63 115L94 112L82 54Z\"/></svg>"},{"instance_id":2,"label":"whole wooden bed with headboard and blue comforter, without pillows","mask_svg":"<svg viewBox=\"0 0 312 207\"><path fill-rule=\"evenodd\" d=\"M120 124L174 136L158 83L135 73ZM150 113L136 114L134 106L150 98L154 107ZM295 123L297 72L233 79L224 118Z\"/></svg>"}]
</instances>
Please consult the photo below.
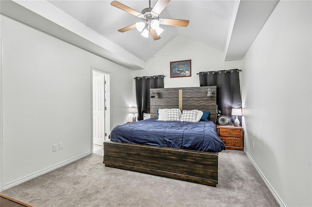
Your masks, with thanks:
<instances>
[{"instance_id":1,"label":"whole wooden bed with headboard and blue comforter, without pillows","mask_svg":"<svg viewBox=\"0 0 312 207\"><path fill-rule=\"evenodd\" d=\"M214 91L211 97L207 96L208 88ZM216 86L151 91L157 94L150 102L151 119L121 124L112 130L111 141L104 142L105 166L216 186L218 152L225 149L212 122L216 116ZM156 121L159 108L210 111L209 121ZM194 134L195 128L199 135ZM156 138L156 134L162 136ZM197 141L191 142L192 138Z\"/></svg>"}]
</instances>

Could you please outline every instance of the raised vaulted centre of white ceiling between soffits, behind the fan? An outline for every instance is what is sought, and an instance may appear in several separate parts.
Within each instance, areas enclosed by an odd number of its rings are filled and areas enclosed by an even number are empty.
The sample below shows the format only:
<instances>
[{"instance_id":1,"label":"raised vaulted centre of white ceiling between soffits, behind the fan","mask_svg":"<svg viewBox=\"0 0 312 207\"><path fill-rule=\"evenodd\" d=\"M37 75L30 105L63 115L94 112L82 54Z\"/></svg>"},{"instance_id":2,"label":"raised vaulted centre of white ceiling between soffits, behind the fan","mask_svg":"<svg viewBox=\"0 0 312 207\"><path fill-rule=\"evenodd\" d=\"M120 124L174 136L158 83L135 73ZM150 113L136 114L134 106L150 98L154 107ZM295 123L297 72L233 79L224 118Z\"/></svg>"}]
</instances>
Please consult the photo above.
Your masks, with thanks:
<instances>
[{"instance_id":1,"label":"raised vaulted centre of white ceiling between soffits, behind the fan","mask_svg":"<svg viewBox=\"0 0 312 207\"><path fill-rule=\"evenodd\" d=\"M49 2L143 61L179 34L190 36L223 51L234 6L234 1L172 0L160 17L188 19L189 26L184 28L162 25L164 32L161 39L153 40L150 47L151 40L142 37L136 29L125 33L117 32L118 29L141 19L111 6L111 1L49 0ZM149 6L148 0L120 0L120 2L139 12ZM156 0L151 0L152 7L155 3Z\"/></svg>"}]
</instances>

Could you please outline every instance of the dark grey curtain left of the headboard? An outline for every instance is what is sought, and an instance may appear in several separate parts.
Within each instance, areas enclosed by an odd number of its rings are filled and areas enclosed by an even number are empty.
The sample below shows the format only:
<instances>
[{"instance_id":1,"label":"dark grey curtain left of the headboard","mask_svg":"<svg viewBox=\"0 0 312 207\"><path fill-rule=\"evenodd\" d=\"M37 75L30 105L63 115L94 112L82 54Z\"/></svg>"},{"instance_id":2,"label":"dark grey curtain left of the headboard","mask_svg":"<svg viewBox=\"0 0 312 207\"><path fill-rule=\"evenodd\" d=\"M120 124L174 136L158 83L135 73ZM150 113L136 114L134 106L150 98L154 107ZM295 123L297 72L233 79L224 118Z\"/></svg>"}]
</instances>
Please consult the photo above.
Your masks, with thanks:
<instances>
[{"instance_id":1,"label":"dark grey curtain left of the headboard","mask_svg":"<svg viewBox=\"0 0 312 207\"><path fill-rule=\"evenodd\" d=\"M150 113L150 88L163 88L164 75L136 77L137 120Z\"/></svg>"}]
</instances>

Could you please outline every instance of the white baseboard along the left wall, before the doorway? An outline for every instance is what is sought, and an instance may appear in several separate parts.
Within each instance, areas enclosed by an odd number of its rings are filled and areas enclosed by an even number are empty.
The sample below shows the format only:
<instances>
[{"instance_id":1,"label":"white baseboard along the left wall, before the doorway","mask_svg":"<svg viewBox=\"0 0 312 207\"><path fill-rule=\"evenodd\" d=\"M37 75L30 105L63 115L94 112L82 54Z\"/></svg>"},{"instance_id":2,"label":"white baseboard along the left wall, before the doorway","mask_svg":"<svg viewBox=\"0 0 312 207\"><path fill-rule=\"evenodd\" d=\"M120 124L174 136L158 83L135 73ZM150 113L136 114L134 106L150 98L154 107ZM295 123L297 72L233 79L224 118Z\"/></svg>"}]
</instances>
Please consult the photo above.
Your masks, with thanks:
<instances>
[{"instance_id":1,"label":"white baseboard along the left wall, before the doorway","mask_svg":"<svg viewBox=\"0 0 312 207\"><path fill-rule=\"evenodd\" d=\"M81 159L81 158L83 158L85 156L88 156L88 155L91 155L91 152L88 152L88 153L85 153L85 154L82 154L82 155L78 155L76 157L73 157L71 159L63 161L63 162L61 162L59 164L56 164L56 165L53 165L53 166L51 166L49 168L41 170L41 171L39 171L37 173L33 173L33 174L28 175L28 176L22 177L22 178L20 178L20 179L18 179L16 181L13 181L13 182L10 182L10 183L4 185L3 186L3 190L7 190L7 189L12 188L14 186L20 185L21 183L24 183L24 182L26 182L28 180L31 180L31 179L33 179L35 177L38 177L38 176L42 175L42 174L49 173L49 172L51 172L51 171L53 171L55 169L58 169L58 168L60 168L60 167L62 167L64 165L67 165L69 163L75 162L78 159Z\"/></svg>"}]
</instances>

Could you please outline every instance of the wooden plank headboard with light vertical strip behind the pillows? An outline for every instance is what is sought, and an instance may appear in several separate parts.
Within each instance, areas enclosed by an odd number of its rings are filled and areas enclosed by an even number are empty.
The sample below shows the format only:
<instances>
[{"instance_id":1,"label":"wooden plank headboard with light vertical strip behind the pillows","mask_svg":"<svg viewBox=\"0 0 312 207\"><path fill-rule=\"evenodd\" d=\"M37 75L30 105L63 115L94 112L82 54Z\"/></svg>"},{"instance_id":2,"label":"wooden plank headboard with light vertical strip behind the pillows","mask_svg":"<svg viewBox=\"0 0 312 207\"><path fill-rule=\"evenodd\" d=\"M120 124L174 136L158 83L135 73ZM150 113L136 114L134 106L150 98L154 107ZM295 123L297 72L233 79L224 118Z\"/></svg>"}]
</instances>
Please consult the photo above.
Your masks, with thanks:
<instances>
[{"instance_id":1,"label":"wooden plank headboard with light vertical strip behind the pillows","mask_svg":"<svg viewBox=\"0 0 312 207\"><path fill-rule=\"evenodd\" d=\"M214 91L214 96L207 96L207 89ZM156 97L151 98L151 118L157 117L159 108L180 108L182 110L198 109L210 111L208 120L216 118L216 86L201 87L174 87L174 88L151 88L156 91Z\"/></svg>"}]
</instances>

